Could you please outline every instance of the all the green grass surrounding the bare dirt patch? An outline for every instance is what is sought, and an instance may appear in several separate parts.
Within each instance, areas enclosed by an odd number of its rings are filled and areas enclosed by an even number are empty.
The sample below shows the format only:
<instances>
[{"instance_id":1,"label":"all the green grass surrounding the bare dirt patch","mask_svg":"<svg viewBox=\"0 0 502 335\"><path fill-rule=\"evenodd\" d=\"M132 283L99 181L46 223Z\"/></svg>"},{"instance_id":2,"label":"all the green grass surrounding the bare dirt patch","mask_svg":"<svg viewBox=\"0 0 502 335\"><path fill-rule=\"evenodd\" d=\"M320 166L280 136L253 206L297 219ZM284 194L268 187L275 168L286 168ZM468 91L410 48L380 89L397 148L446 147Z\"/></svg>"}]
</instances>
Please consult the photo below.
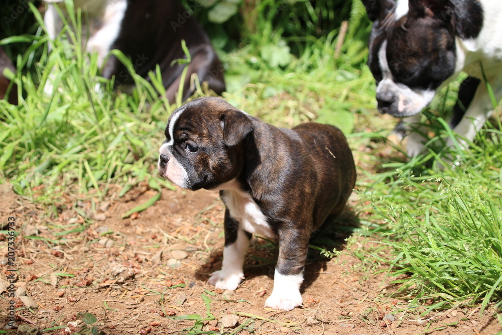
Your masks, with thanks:
<instances>
[{"instance_id":1,"label":"all the green grass surrounding the bare dirt patch","mask_svg":"<svg viewBox=\"0 0 502 335\"><path fill-rule=\"evenodd\" d=\"M350 22L359 25L358 1L351 14ZM71 18L70 25L78 21L78 16ZM379 152L391 146L386 137L395 123L383 121L374 110L374 80L364 65L367 25L349 28L334 58L341 42L337 27L319 38L295 37L283 34L281 22L273 26L258 18L256 32L243 36L239 48L220 51L228 88L224 98L276 126L316 120L344 131L364 175L358 181L360 203L353 210L373 213L361 215L361 231L392 251L390 259L378 253L364 257L387 262L393 275L407 276L397 295L429 309L459 303L499 307L500 131L487 126L470 149L451 149L460 158L458 166L442 172L435 168L450 150L444 146L451 134L443 118L453 104L456 82L425 113L424 123L434 135L429 153L409 162L381 157ZM131 95L113 91L113 81L99 77L96 57L84 53L78 41L67 28L50 55L43 30L0 42L30 43L12 74L20 104L0 100L5 120L0 123L0 182L13 183L17 193L48 207L67 193L104 198L115 185L122 195L142 181L153 189L171 187L157 178L155 168L165 124L177 106L162 97L158 73L150 74L151 83L134 76L137 87ZM134 73L131 62L116 55ZM45 94L49 76L54 90Z\"/></svg>"}]
</instances>

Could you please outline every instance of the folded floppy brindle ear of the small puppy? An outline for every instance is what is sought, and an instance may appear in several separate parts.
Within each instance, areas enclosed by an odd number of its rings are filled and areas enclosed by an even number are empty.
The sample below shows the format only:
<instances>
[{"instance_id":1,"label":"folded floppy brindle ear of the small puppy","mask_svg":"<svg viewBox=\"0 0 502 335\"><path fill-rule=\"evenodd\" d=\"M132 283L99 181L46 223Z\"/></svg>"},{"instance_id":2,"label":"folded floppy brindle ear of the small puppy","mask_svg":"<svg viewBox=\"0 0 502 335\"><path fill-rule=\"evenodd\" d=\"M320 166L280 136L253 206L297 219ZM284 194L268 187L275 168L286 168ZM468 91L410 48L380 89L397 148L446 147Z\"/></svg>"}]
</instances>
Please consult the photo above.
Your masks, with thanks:
<instances>
[{"instance_id":1,"label":"folded floppy brindle ear of the small puppy","mask_svg":"<svg viewBox=\"0 0 502 335\"><path fill-rule=\"evenodd\" d=\"M219 118L223 128L223 142L228 147L239 144L255 129L247 115L238 109L228 109Z\"/></svg>"}]
</instances>

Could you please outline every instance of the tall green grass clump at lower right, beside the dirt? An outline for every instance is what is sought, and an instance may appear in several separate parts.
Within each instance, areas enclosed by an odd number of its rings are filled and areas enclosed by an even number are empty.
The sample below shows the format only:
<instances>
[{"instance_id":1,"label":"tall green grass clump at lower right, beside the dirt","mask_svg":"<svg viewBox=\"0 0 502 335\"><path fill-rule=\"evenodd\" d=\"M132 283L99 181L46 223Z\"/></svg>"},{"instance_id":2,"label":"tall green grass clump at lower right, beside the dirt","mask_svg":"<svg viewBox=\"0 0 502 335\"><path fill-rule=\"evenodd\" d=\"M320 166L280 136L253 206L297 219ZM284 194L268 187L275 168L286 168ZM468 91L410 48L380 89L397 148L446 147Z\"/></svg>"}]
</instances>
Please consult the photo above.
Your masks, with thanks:
<instances>
[{"instance_id":1,"label":"tall green grass clump at lower right, beside the dirt","mask_svg":"<svg viewBox=\"0 0 502 335\"><path fill-rule=\"evenodd\" d=\"M495 143L502 135L486 133ZM489 301L500 307L502 156L493 144L481 144L454 169L400 171L392 182L368 187L373 219L386 226L382 243L392 248L384 261L393 275L409 275L396 294L428 301L429 310L477 302L482 311Z\"/></svg>"}]
</instances>

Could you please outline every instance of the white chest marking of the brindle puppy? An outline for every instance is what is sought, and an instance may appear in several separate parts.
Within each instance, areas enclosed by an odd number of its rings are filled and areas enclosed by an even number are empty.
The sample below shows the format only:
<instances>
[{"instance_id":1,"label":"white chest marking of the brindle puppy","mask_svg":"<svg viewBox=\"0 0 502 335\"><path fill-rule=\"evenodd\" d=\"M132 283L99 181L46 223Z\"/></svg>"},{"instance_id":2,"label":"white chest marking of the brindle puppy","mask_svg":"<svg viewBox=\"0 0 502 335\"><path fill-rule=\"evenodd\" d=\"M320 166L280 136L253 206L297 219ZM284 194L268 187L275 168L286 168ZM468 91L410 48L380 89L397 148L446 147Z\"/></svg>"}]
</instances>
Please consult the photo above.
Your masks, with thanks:
<instances>
[{"instance_id":1,"label":"white chest marking of the brindle puppy","mask_svg":"<svg viewBox=\"0 0 502 335\"><path fill-rule=\"evenodd\" d=\"M239 221L244 231L276 238L267 217L248 193L239 189L226 189L223 192L223 202L228 207L230 216Z\"/></svg>"}]
</instances>

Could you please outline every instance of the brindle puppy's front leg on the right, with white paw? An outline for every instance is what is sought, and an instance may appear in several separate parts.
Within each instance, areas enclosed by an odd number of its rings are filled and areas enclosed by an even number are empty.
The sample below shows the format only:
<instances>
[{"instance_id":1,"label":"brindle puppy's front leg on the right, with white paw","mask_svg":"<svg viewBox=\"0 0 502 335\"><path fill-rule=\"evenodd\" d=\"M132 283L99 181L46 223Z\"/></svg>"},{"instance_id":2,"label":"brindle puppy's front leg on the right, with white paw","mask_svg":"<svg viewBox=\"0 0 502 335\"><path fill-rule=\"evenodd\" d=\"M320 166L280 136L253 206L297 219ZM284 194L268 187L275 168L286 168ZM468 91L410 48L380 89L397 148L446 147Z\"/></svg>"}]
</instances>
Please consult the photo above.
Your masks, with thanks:
<instances>
[{"instance_id":1,"label":"brindle puppy's front leg on the right, with white paw","mask_svg":"<svg viewBox=\"0 0 502 335\"><path fill-rule=\"evenodd\" d=\"M279 259L274 273L274 289L265 307L292 310L302 306L300 286L307 259L310 234L289 229L279 232Z\"/></svg>"}]
</instances>

